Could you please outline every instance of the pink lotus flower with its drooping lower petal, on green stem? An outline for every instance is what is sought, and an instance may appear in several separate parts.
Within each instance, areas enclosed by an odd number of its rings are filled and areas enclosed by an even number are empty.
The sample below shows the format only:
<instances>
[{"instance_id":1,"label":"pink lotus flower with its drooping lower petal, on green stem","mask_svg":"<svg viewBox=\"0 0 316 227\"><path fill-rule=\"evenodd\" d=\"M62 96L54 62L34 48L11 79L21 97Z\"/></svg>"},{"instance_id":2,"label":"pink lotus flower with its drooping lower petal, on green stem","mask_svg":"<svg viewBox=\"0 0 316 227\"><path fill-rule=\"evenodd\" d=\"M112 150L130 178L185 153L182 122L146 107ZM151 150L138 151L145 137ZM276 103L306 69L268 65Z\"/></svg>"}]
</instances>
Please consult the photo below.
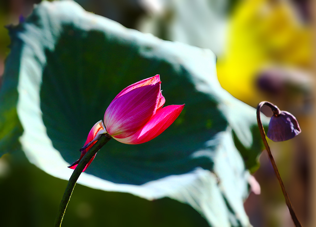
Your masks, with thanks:
<instances>
[{"instance_id":1,"label":"pink lotus flower with its drooping lower petal, on green stem","mask_svg":"<svg viewBox=\"0 0 316 227\"><path fill-rule=\"evenodd\" d=\"M123 89L106 109L104 124L102 121L97 122L90 130L85 143L89 146L82 150L80 159L69 168L76 168L99 134L107 133L125 144L140 144L166 130L179 116L184 105L163 107L165 98L161 94L160 84L159 75L155 75Z\"/></svg>"}]
</instances>

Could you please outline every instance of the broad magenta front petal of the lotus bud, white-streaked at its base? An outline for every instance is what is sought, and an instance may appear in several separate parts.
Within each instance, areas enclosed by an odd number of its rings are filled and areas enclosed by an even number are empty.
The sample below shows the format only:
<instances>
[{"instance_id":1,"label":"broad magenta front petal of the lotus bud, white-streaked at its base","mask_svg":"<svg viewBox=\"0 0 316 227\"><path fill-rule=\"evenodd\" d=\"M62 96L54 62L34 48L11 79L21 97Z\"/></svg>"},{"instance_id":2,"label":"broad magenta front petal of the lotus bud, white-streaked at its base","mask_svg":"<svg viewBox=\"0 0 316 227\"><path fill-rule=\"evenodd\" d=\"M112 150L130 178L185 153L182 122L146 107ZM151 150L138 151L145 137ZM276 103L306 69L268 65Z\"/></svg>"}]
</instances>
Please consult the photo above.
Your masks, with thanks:
<instances>
[{"instance_id":1,"label":"broad magenta front petal of the lotus bud, white-streaked at its base","mask_svg":"<svg viewBox=\"0 0 316 227\"><path fill-rule=\"evenodd\" d=\"M157 109L160 83L137 87L114 99L104 114L106 131L125 138L148 122Z\"/></svg>"}]
</instances>

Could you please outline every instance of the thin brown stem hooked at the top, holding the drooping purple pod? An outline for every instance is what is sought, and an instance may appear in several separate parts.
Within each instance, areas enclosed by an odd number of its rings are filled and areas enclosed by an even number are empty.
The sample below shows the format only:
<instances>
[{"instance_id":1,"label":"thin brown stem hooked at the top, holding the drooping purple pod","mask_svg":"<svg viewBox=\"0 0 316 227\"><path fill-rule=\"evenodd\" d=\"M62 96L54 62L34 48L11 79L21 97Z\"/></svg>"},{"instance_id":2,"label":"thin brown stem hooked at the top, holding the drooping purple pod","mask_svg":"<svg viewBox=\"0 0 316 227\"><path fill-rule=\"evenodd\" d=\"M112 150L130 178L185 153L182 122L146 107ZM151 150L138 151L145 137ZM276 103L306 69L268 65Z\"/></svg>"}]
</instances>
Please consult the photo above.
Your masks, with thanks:
<instances>
[{"instance_id":1,"label":"thin brown stem hooked at the top, holding the drooping purple pod","mask_svg":"<svg viewBox=\"0 0 316 227\"><path fill-rule=\"evenodd\" d=\"M261 134L261 138L262 138L264 146L265 146L265 148L266 148L266 150L268 152L268 156L269 156L270 162L271 162L271 164L273 166L274 173L276 174L276 178L278 179L278 181L280 183L280 186L281 186L284 198L285 198L285 202L286 202L286 205L289 208L289 212L291 214L292 220L293 220L293 222L294 222L296 227L301 227L302 225L301 225L301 223L299 222L299 220L297 219L297 217L295 215L295 212L293 210L293 207L292 207L289 195L285 191L285 187L284 187L283 181L281 179L279 170L277 169L276 163L275 163L274 158L273 158L273 156L271 154L271 150L270 150L270 147L268 145L268 141L265 138L265 132L264 132L264 128L263 128L263 125L262 125L262 122L261 122L261 118L260 118L260 108L263 105L269 106L271 108L273 114L275 114L275 115L280 114L281 111L279 110L279 108L277 106L273 105L272 103L267 102L267 101L263 101L263 102L259 103L259 105L257 107L257 122L258 122L258 126L259 126L259 131L260 131L260 134Z\"/></svg>"}]
</instances>

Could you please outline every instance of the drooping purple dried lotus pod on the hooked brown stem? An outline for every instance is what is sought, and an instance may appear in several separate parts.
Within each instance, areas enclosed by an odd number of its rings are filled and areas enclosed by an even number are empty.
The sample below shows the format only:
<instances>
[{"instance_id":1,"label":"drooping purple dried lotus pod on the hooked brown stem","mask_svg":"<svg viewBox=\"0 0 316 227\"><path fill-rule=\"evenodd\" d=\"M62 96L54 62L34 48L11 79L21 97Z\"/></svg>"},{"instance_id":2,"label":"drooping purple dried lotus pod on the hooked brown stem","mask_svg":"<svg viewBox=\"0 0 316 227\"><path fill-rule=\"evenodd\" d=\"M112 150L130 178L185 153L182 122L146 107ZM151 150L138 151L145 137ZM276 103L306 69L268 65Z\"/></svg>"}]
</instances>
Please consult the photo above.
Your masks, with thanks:
<instances>
[{"instance_id":1,"label":"drooping purple dried lotus pod on the hooked brown stem","mask_svg":"<svg viewBox=\"0 0 316 227\"><path fill-rule=\"evenodd\" d=\"M292 114L281 111L279 115L273 115L270 119L267 137L273 141L292 139L300 134L301 128Z\"/></svg>"}]
</instances>

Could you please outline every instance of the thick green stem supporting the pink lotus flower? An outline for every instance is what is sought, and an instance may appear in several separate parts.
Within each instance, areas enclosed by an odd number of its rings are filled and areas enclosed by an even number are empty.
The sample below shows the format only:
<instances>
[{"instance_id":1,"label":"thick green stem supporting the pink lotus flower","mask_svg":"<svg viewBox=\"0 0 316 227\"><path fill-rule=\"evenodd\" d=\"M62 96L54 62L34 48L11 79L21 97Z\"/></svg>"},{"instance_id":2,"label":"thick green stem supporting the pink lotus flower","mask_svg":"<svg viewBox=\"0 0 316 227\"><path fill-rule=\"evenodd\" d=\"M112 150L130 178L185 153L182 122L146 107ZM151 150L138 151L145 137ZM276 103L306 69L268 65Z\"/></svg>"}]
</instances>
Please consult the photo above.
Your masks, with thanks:
<instances>
[{"instance_id":1,"label":"thick green stem supporting the pink lotus flower","mask_svg":"<svg viewBox=\"0 0 316 227\"><path fill-rule=\"evenodd\" d=\"M100 139L97 140L97 142L90 148L90 150L83 156L83 158L78 163L76 169L72 172L69 182L67 184L65 193L63 195L63 198L60 202L57 217L55 220L55 227L60 227L61 222L63 221L63 217L68 205L68 202L70 200L70 196L72 194L72 191L75 188L76 182L82 173L82 170L84 167L88 164L90 159L101 149L102 146L104 146L111 137L108 137L106 134L102 134Z\"/></svg>"}]
</instances>

